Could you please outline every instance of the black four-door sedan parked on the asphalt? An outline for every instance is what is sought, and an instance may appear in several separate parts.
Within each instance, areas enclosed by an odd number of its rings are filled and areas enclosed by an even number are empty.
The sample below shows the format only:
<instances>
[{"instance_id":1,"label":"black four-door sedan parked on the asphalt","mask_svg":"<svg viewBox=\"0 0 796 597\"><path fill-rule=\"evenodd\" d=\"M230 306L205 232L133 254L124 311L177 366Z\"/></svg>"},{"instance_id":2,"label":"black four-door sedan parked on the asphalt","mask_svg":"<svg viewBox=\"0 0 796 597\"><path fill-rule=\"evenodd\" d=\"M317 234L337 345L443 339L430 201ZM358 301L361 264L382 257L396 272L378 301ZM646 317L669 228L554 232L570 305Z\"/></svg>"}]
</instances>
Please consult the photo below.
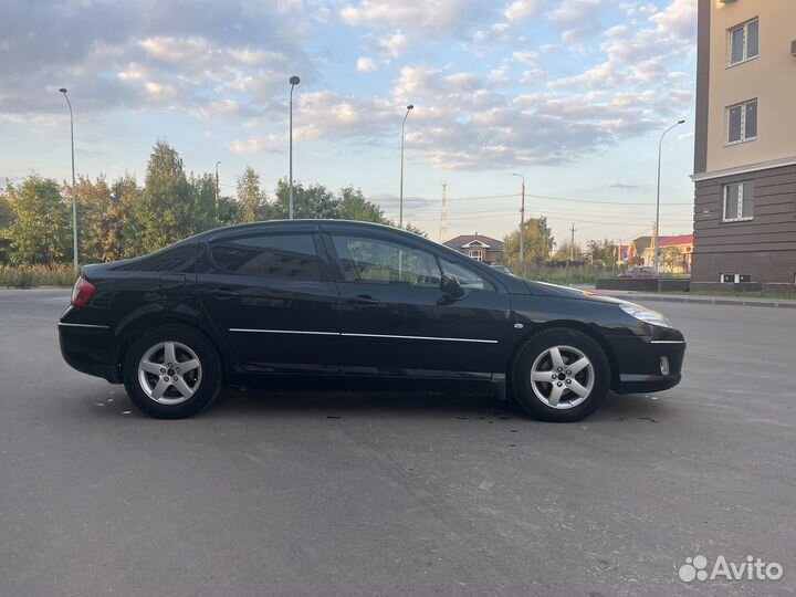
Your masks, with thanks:
<instances>
[{"instance_id":1,"label":"black four-door sedan parked on the asphalt","mask_svg":"<svg viewBox=\"0 0 796 597\"><path fill-rule=\"evenodd\" d=\"M685 343L642 306L504 274L416 234L294 220L86 265L59 322L75 369L191 416L224 383L481 385L576 421L609 389L680 381Z\"/></svg>"}]
</instances>

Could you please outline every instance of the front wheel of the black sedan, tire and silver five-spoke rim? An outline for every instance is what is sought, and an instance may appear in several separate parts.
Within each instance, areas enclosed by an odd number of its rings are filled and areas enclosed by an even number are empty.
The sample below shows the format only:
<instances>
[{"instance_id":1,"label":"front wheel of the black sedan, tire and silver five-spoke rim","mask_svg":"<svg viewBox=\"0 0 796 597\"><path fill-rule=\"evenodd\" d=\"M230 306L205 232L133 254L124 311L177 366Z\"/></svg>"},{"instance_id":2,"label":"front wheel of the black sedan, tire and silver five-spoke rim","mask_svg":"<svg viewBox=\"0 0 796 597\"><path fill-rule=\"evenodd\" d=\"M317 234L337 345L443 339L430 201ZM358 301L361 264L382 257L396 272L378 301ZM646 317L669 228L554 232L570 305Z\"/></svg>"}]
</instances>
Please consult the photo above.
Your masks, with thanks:
<instances>
[{"instance_id":1,"label":"front wheel of the black sedan, tire and silver five-spoke rim","mask_svg":"<svg viewBox=\"0 0 796 597\"><path fill-rule=\"evenodd\" d=\"M583 332L564 327L528 338L511 368L514 399L542 421L585 419L605 400L610 378L610 364L599 344Z\"/></svg>"}]
</instances>

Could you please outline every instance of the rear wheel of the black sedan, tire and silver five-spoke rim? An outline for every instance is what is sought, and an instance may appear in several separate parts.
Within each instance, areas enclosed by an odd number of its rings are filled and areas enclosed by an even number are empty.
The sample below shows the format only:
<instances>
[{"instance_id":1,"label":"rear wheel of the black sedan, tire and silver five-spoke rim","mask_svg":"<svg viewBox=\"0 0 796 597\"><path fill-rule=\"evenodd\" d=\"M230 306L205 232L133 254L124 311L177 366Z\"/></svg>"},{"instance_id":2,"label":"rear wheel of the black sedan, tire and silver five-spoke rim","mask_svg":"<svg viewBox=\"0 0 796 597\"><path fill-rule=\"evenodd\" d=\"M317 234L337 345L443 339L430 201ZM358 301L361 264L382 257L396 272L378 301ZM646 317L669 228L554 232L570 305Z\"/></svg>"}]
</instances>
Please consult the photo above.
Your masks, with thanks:
<instances>
[{"instance_id":1,"label":"rear wheel of the black sedan, tire and silver five-spoke rim","mask_svg":"<svg viewBox=\"0 0 796 597\"><path fill-rule=\"evenodd\" d=\"M123 366L127 396L158 419L196 415L221 388L221 360L216 348L199 332L180 325L145 332L130 345Z\"/></svg>"}]
</instances>

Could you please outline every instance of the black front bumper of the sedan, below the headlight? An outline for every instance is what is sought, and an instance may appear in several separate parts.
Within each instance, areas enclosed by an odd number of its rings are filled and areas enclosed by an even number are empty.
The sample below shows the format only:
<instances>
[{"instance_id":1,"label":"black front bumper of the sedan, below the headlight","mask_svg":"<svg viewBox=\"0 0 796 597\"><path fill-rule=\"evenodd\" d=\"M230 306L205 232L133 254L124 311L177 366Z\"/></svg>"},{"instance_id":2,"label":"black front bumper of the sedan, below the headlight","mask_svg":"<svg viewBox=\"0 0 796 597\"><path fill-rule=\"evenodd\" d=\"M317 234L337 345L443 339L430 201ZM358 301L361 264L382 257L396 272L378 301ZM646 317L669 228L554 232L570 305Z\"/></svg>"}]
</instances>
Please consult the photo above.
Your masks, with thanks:
<instances>
[{"instance_id":1,"label":"black front bumper of the sedan, below the headlight","mask_svg":"<svg viewBox=\"0 0 796 597\"><path fill-rule=\"evenodd\" d=\"M622 336L609 343L617 359L611 388L617 394L663 391L682 379L685 341L679 333L666 339Z\"/></svg>"}]
</instances>

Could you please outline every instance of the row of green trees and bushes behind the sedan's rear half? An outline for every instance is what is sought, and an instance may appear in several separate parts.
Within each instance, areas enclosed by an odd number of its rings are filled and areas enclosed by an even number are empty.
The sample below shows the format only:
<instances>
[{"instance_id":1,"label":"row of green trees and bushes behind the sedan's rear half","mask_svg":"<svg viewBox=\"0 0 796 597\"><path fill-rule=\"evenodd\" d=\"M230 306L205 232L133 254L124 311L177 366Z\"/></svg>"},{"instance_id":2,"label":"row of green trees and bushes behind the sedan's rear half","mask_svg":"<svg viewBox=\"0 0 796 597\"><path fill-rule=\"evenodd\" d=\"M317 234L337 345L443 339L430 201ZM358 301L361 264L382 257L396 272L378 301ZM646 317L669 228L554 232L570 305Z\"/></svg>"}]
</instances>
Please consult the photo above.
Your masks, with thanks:
<instances>
[{"instance_id":1,"label":"row of green trees and bushes behind the sedan's rear half","mask_svg":"<svg viewBox=\"0 0 796 597\"><path fill-rule=\"evenodd\" d=\"M332 191L322 185L294 185L296 218L333 218L394 226L362 191ZM125 175L77 181L81 263L140 255L221 226L289 216L289 186L279 180L272 197L247 167L235 195L219 193L211 174L186 170L165 142L153 147L144 186ZM409 224L410 231L423 234ZM0 189L0 285L72 284L72 188L32 174Z\"/></svg>"}]
</instances>

